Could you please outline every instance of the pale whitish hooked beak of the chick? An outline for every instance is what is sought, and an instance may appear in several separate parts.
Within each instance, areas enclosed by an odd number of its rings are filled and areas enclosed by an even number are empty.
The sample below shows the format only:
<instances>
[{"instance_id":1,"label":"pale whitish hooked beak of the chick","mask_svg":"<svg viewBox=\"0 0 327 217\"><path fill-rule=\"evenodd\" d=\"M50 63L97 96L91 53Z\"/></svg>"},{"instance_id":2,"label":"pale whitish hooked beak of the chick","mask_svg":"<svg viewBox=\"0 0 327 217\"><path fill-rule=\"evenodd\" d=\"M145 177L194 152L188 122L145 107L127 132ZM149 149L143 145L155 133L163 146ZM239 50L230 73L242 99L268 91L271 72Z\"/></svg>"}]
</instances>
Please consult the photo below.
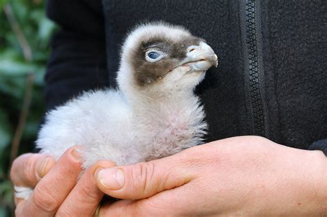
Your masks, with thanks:
<instances>
[{"instance_id":1,"label":"pale whitish hooked beak of the chick","mask_svg":"<svg viewBox=\"0 0 327 217\"><path fill-rule=\"evenodd\" d=\"M181 65L188 65L192 71L206 71L212 65L217 67L218 57L212 48L201 41L198 46L189 47L186 58L181 61Z\"/></svg>"}]
</instances>

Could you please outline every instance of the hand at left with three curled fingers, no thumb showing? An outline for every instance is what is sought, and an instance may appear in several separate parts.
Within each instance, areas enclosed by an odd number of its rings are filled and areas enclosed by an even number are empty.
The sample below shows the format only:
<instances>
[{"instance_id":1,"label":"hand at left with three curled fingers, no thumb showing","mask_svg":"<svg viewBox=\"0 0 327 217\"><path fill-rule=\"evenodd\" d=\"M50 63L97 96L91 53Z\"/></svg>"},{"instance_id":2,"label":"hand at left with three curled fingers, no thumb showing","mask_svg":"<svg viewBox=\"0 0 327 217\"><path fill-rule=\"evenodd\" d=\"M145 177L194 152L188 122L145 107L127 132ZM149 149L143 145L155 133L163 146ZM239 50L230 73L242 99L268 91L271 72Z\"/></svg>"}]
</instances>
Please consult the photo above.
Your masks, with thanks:
<instances>
[{"instance_id":1,"label":"hand at left with three curled fingers, no thumb showing","mask_svg":"<svg viewBox=\"0 0 327 217\"><path fill-rule=\"evenodd\" d=\"M12 164L15 186L34 187L28 200L14 198L15 216L93 216L102 197L93 174L98 167L112 167L101 161L81 173L81 154L76 147L66 151L59 161L44 154L23 154Z\"/></svg>"}]
</instances>

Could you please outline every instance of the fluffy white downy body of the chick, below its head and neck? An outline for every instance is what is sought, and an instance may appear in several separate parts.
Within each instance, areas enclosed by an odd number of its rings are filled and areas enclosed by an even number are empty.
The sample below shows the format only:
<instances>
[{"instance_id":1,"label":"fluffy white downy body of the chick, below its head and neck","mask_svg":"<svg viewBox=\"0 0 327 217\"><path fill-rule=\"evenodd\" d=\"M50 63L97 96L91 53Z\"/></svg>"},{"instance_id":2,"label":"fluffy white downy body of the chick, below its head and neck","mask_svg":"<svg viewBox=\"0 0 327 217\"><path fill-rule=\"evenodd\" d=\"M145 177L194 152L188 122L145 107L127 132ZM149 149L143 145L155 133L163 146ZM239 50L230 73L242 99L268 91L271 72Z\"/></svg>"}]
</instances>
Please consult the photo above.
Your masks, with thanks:
<instances>
[{"instance_id":1,"label":"fluffy white downy body of the chick, below its head and neck","mask_svg":"<svg viewBox=\"0 0 327 217\"><path fill-rule=\"evenodd\" d=\"M121 92L98 90L52 110L37 146L59 158L72 145L82 145L84 167L103 159L128 165L201 143L203 118L196 96L133 110Z\"/></svg>"}]
</instances>

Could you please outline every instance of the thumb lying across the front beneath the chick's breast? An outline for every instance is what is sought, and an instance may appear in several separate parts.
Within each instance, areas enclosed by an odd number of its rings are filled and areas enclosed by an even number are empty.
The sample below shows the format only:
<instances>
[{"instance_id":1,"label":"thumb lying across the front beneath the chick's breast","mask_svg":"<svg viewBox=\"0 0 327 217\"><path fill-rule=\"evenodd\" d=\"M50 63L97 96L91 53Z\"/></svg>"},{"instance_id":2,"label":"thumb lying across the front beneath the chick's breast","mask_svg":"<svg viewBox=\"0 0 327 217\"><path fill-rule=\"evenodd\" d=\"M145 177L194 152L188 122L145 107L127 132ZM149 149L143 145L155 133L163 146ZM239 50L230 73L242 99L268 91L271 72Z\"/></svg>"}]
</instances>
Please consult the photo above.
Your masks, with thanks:
<instances>
[{"instance_id":1,"label":"thumb lying across the front beneath the chick's breast","mask_svg":"<svg viewBox=\"0 0 327 217\"><path fill-rule=\"evenodd\" d=\"M109 196L131 200L179 187L193 177L177 155L135 165L98 168L95 172L97 186Z\"/></svg>"}]
</instances>

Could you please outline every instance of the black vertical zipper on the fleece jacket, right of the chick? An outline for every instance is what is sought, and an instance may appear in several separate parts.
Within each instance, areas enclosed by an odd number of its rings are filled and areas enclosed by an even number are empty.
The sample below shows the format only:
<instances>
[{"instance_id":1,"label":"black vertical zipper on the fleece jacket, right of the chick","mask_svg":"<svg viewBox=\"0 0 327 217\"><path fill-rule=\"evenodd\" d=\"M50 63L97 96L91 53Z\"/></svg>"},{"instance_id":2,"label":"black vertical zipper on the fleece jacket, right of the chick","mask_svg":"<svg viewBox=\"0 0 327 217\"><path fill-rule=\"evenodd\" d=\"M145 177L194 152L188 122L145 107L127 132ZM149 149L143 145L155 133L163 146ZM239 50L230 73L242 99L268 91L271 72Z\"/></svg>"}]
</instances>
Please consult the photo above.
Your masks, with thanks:
<instances>
[{"instance_id":1,"label":"black vertical zipper on the fleece jacket, right of the chick","mask_svg":"<svg viewBox=\"0 0 327 217\"><path fill-rule=\"evenodd\" d=\"M264 90L264 63L261 37L261 8L255 0L239 0L244 53L246 107L252 134L269 137L268 110Z\"/></svg>"}]
</instances>

